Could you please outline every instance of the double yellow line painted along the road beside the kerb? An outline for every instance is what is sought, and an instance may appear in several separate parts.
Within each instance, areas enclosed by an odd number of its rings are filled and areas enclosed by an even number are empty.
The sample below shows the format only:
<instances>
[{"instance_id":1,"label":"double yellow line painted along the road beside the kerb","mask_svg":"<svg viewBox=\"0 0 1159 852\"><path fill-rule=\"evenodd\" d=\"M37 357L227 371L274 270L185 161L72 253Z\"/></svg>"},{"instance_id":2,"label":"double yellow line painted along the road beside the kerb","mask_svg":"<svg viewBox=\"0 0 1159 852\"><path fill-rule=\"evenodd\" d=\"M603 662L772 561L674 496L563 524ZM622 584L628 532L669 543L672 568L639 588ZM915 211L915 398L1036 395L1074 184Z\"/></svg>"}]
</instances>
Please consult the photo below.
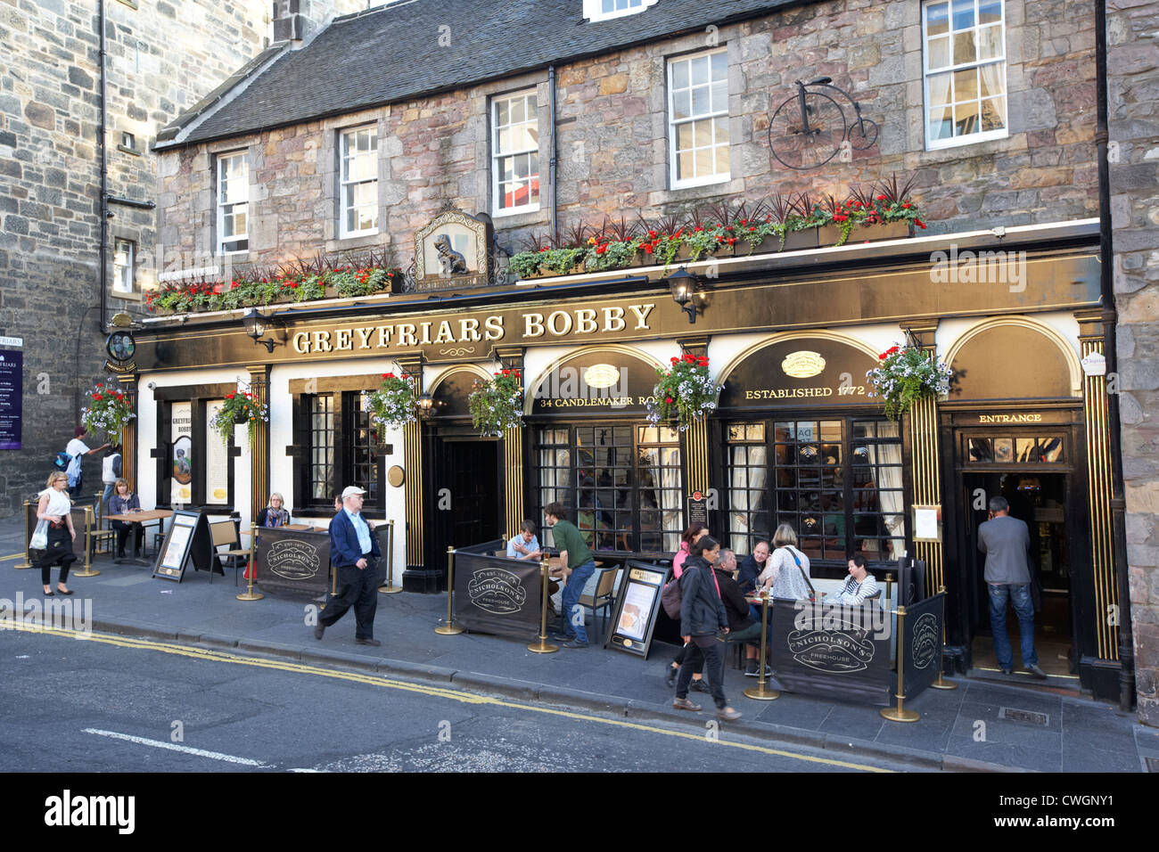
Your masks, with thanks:
<instances>
[{"instance_id":1,"label":"double yellow line painted along the road beside the kerb","mask_svg":"<svg viewBox=\"0 0 1159 852\"><path fill-rule=\"evenodd\" d=\"M589 715L586 713L576 713L573 711L555 709L553 707L541 707L538 705L518 704L516 701L509 701L502 698L476 696L469 692L462 692L460 690L445 689L442 686L430 686L424 684L413 684L413 683L407 683L404 680L395 680L393 678L384 677L381 675L362 675L351 671L323 669L316 665L306 665L304 663L293 663L284 660L262 660L261 657L247 657L240 654L229 654L223 650L214 650L212 648L192 648L189 646L174 645L170 642L154 642L143 639L131 639L126 636L111 636L103 633L85 634L85 633L78 633L75 631L60 631L51 627L38 627L38 626L20 625L20 624L9 626L15 627L16 629L20 631L24 631L27 633L46 633L53 636L80 639L90 642L102 642L104 645L112 645L119 648L136 648L139 650L160 651L162 654L173 654L176 656L191 657L194 660L201 660L203 662L232 663L234 665L252 665L258 669L274 669L276 671L289 671L296 675L316 675L320 677L328 677L336 680L349 680L352 683L366 684L369 686L378 686L380 689L414 692L416 694L428 696L431 698L446 698L452 701L459 701L460 704L505 707L510 709L526 711L531 713L542 713L553 716L562 716L564 719L573 719L581 722L597 722L599 724L610 724L617 728L641 730L648 734L663 734L664 736L680 737L684 740L693 740L697 742L706 742L706 737L704 734L692 734L680 730L668 730L665 728L657 728L655 726L642 724L640 722L629 722L620 719L607 719L604 716ZM730 749L743 749L745 751L755 751L761 755L789 757L795 760L817 763L826 766L839 766L846 770L858 770L861 772L891 772L891 770L882 769L880 766L868 766L865 764L850 763L847 760L836 760L828 757L814 757L811 755L800 755L793 751L785 751L781 749L770 749L764 745L734 742L731 740L726 740L722 737L714 740L713 743Z\"/></svg>"}]
</instances>

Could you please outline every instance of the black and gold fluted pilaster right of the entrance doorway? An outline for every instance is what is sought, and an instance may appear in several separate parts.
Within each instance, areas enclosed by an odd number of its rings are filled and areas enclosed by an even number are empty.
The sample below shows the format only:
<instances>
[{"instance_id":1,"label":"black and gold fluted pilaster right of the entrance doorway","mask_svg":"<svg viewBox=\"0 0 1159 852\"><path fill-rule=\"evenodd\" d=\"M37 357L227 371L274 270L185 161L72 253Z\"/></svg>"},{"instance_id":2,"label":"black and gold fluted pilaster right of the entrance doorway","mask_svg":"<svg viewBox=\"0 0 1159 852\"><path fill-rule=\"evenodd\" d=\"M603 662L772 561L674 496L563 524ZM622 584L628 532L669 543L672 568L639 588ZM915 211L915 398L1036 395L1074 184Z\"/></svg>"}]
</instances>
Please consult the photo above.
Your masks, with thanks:
<instances>
[{"instance_id":1,"label":"black and gold fluted pilaster right of the entrance doorway","mask_svg":"<svg viewBox=\"0 0 1159 852\"><path fill-rule=\"evenodd\" d=\"M1078 315L1083 357L1106 356L1101 311ZM1100 660L1118 660L1118 606L1111 532L1110 410L1107 377L1083 377L1083 424L1086 434L1087 503L1091 520L1091 568L1094 587L1095 647Z\"/></svg>"}]
</instances>

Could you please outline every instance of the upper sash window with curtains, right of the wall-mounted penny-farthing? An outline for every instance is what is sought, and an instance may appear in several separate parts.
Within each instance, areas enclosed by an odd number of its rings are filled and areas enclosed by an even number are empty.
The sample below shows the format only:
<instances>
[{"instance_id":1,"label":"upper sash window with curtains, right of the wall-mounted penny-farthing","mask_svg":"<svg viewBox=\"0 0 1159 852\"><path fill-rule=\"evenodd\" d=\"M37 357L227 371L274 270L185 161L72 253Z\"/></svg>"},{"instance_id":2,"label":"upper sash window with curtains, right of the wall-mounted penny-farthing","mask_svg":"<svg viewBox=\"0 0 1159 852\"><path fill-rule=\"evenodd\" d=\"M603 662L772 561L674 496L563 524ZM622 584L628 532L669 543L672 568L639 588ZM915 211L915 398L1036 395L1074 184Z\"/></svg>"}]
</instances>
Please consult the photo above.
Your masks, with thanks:
<instances>
[{"instance_id":1,"label":"upper sash window with curtains, right of the wall-mounted penny-farthing","mask_svg":"<svg viewBox=\"0 0 1159 852\"><path fill-rule=\"evenodd\" d=\"M1007 136L1003 1L927 2L921 28L926 147Z\"/></svg>"}]
</instances>

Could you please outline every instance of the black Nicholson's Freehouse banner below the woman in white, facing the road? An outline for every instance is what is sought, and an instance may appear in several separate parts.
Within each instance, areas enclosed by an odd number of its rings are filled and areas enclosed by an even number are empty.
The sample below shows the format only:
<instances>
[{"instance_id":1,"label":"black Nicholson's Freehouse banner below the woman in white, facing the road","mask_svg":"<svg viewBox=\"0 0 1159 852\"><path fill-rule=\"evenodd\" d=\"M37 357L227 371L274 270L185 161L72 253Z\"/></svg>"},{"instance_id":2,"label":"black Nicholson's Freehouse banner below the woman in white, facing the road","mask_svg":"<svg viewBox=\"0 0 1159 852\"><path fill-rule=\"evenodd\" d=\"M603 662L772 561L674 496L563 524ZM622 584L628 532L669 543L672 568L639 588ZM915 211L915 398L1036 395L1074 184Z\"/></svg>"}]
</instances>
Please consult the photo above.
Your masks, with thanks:
<instances>
[{"instance_id":1,"label":"black Nicholson's Freehouse banner below the woman in white, facing the road","mask_svg":"<svg viewBox=\"0 0 1159 852\"><path fill-rule=\"evenodd\" d=\"M771 607L773 673L786 691L889 705L897 685L890 613L875 603L775 600Z\"/></svg>"}]
</instances>

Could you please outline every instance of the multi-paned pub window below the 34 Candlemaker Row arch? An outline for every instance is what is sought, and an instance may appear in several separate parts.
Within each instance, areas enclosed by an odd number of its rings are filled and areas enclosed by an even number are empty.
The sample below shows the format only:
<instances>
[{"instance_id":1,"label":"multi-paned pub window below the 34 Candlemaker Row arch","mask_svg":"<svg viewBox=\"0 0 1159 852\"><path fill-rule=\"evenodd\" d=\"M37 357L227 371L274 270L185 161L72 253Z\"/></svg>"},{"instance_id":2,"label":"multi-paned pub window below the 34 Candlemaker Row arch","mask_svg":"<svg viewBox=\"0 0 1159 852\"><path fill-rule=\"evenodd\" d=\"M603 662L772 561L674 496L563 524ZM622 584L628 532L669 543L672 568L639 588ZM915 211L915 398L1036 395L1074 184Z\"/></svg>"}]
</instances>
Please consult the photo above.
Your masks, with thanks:
<instances>
[{"instance_id":1,"label":"multi-paned pub window below the 34 Candlemaker Row arch","mask_svg":"<svg viewBox=\"0 0 1159 852\"><path fill-rule=\"evenodd\" d=\"M593 551L673 553L683 532L679 434L666 427L539 427L539 517L563 503Z\"/></svg>"}]
</instances>

